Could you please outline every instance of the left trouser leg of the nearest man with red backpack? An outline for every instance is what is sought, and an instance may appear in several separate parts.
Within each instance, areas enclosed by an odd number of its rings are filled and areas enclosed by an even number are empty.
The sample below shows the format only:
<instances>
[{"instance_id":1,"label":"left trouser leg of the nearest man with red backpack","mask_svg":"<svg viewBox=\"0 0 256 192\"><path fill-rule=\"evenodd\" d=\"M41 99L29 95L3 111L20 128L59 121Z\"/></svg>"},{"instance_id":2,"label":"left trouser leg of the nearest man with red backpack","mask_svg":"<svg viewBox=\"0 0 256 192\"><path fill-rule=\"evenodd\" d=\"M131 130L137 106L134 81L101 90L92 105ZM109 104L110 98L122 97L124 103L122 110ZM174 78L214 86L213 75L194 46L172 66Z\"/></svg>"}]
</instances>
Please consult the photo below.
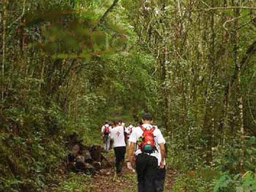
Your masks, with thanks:
<instances>
[{"instance_id":1,"label":"left trouser leg of the nearest man with red backpack","mask_svg":"<svg viewBox=\"0 0 256 192\"><path fill-rule=\"evenodd\" d=\"M146 169L146 156L145 154L139 154L136 157L136 172L138 179L138 191L144 192L144 181L145 181L145 169Z\"/></svg>"}]
</instances>

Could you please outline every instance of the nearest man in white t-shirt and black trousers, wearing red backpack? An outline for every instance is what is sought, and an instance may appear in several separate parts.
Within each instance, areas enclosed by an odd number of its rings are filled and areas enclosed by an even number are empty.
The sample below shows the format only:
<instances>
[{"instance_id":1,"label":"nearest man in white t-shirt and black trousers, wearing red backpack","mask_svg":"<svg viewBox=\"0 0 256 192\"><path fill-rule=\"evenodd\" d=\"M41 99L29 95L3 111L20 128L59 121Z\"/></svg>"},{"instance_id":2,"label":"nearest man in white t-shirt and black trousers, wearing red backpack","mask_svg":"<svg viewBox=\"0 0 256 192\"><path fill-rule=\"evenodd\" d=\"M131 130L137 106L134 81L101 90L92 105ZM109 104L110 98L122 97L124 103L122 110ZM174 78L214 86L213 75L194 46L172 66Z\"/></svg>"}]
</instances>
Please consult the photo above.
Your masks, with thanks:
<instances>
[{"instance_id":1,"label":"nearest man in white t-shirt and black trousers, wearing red backpack","mask_svg":"<svg viewBox=\"0 0 256 192\"><path fill-rule=\"evenodd\" d=\"M155 192L157 168L164 168L165 147L161 131L152 125L153 117L144 113L142 125L133 128L130 136L130 146L127 153L127 168L133 170L131 160L136 144L136 172L139 192ZM159 149L159 150L157 150Z\"/></svg>"}]
</instances>

